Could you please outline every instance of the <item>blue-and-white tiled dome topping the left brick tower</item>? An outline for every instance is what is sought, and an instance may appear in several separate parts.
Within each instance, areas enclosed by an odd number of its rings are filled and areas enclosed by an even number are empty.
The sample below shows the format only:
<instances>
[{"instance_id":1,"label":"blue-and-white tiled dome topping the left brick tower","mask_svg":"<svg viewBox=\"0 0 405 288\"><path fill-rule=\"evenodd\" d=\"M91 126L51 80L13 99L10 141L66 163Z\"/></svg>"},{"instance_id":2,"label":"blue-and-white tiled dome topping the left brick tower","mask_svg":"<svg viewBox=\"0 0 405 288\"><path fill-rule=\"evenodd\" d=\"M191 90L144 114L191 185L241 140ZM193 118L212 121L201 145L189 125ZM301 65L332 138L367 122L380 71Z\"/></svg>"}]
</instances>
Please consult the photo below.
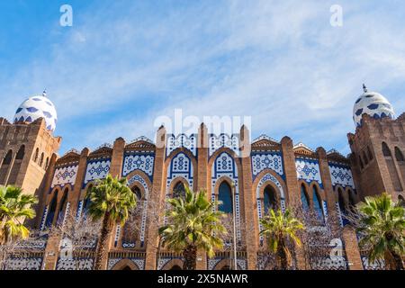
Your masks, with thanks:
<instances>
[{"instance_id":1,"label":"blue-and-white tiled dome topping the left brick tower","mask_svg":"<svg viewBox=\"0 0 405 288\"><path fill-rule=\"evenodd\" d=\"M31 123L39 118L45 119L47 130L55 130L58 115L54 104L46 97L45 92L25 100L15 112L14 123L18 121Z\"/></svg>"}]
</instances>

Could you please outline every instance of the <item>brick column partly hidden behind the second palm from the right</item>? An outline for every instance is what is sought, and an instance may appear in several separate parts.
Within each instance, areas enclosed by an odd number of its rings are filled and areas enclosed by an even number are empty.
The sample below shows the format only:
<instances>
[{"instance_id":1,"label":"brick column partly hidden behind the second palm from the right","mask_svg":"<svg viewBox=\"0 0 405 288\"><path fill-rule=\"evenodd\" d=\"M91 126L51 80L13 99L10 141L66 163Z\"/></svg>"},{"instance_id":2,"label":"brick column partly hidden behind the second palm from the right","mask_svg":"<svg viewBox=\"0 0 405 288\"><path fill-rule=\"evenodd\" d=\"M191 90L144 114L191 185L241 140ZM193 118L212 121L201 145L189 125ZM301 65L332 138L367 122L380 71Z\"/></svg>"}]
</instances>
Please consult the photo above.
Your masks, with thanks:
<instances>
[{"instance_id":1,"label":"brick column partly hidden behind the second palm from the right","mask_svg":"<svg viewBox=\"0 0 405 288\"><path fill-rule=\"evenodd\" d=\"M290 208L301 206L301 193L298 185L297 168L295 166L293 140L284 136L281 140L281 150L283 153L285 185L287 186L287 194L285 195L286 206ZM306 265L302 247L295 247L295 253L297 255L298 269L304 270Z\"/></svg>"}]
</instances>

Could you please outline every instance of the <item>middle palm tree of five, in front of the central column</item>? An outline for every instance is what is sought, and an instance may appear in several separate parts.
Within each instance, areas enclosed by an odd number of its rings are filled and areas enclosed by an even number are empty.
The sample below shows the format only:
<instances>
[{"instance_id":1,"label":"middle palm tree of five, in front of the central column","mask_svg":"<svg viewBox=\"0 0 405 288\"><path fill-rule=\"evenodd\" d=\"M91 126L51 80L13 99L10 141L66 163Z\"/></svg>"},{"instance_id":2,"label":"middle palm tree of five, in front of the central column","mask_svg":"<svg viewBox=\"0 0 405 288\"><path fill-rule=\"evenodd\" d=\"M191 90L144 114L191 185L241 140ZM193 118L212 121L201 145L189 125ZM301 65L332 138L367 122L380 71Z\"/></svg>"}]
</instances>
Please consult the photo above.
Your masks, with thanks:
<instances>
[{"instance_id":1,"label":"middle palm tree of five, in front of the central column","mask_svg":"<svg viewBox=\"0 0 405 288\"><path fill-rule=\"evenodd\" d=\"M203 249L213 257L214 249L223 247L220 235L227 231L220 222L224 213L214 209L218 202L208 201L204 190L193 193L184 188L184 197L167 200L171 205L166 212L169 224L159 229L159 235L163 245L183 253L184 270L195 270L197 250Z\"/></svg>"}]
</instances>

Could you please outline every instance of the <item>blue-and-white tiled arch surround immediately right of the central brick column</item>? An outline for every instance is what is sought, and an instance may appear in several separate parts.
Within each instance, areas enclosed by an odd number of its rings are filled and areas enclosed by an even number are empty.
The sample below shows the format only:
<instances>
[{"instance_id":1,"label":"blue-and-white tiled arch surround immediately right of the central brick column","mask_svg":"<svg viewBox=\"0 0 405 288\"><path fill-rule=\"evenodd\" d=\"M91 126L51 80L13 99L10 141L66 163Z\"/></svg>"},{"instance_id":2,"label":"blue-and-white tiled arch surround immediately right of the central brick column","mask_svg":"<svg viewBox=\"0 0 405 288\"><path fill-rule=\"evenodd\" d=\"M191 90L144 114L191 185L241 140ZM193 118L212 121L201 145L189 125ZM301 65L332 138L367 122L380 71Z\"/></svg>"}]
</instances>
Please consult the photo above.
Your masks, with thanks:
<instances>
[{"instance_id":1,"label":"blue-and-white tiled arch surround immediately right of the central brick column","mask_svg":"<svg viewBox=\"0 0 405 288\"><path fill-rule=\"evenodd\" d=\"M215 159L211 168L211 201L215 201L215 184L221 176L227 176L235 184L235 208L236 208L236 225L238 241L241 240L240 232L240 204L239 204L239 185L238 185L238 167L235 159L227 152L222 152Z\"/></svg>"}]
</instances>

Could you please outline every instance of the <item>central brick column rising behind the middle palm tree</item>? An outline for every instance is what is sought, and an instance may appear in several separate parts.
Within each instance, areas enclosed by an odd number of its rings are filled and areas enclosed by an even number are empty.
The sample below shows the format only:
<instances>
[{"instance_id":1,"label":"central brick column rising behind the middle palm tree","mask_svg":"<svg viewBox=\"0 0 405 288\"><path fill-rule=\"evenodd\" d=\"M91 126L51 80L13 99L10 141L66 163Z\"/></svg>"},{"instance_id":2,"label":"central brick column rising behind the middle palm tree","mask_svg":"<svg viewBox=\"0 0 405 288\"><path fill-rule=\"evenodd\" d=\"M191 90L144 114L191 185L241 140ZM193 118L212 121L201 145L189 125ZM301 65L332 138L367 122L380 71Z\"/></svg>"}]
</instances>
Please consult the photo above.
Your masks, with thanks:
<instances>
[{"instance_id":1,"label":"central brick column rising behind the middle palm tree","mask_svg":"<svg viewBox=\"0 0 405 288\"><path fill-rule=\"evenodd\" d=\"M208 130L204 123L198 130L197 139L197 191L205 190L207 198L211 201L211 193L208 191ZM201 259L201 260L199 260ZM207 269L207 254L199 250L197 253L197 270Z\"/></svg>"}]
</instances>

